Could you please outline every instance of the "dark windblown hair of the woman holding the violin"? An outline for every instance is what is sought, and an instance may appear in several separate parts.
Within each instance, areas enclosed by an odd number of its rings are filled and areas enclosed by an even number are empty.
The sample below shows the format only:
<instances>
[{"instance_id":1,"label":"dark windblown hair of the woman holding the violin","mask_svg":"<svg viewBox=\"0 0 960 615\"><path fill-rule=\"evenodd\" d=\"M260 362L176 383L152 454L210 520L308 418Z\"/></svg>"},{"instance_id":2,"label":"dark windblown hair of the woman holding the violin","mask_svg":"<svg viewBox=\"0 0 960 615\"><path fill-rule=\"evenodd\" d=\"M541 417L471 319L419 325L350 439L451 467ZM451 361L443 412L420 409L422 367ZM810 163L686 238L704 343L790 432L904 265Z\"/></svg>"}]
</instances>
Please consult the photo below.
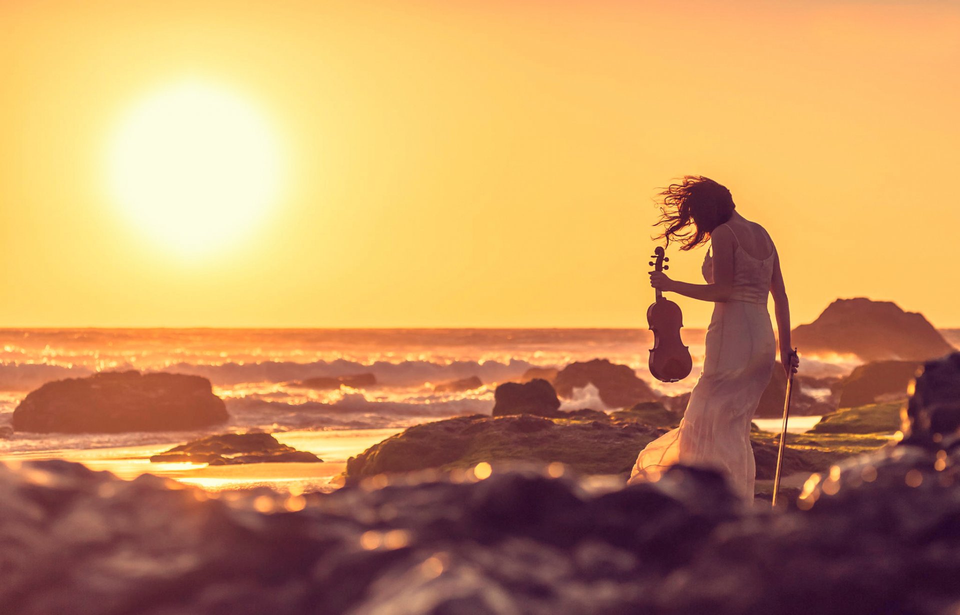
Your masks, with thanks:
<instances>
[{"instance_id":1,"label":"dark windblown hair of the woman holding the violin","mask_svg":"<svg viewBox=\"0 0 960 615\"><path fill-rule=\"evenodd\" d=\"M724 224L733 215L733 198L722 184L708 177L684 176L682 183L672 183L663 189L658 200L663 232L655 239L680 242L681 249L692 249L707 243L713 229ZM692 228L691 228L692 226Z\"/></svg>"}]
</instances>

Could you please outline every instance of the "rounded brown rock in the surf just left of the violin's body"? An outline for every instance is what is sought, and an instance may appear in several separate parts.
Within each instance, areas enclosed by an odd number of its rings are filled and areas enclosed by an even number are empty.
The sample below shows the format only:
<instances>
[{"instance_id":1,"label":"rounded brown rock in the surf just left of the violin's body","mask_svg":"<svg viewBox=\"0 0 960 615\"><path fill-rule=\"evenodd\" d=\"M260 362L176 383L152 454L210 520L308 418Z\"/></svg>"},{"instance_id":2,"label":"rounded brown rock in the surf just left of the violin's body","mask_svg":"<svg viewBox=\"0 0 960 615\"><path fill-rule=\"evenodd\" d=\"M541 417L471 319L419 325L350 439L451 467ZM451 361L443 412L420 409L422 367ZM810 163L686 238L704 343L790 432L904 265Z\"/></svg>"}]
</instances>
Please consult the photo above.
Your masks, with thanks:
<instances>
[{"instance_id":1,"label":"rounded brown rock in the surf just left of the violin's body","mask_svg":"<svg viewBox=\"0 0 960 615\"><path fill-rule=\"evenodd\" d=\"M572 397L574 389L588 384L597 388L608 408L630 408L645 401L656 401L657 395L629 366L612 364L607 359L571 363L557 374L554 387L561 397Z\"/></svg>"}]
</instances>

